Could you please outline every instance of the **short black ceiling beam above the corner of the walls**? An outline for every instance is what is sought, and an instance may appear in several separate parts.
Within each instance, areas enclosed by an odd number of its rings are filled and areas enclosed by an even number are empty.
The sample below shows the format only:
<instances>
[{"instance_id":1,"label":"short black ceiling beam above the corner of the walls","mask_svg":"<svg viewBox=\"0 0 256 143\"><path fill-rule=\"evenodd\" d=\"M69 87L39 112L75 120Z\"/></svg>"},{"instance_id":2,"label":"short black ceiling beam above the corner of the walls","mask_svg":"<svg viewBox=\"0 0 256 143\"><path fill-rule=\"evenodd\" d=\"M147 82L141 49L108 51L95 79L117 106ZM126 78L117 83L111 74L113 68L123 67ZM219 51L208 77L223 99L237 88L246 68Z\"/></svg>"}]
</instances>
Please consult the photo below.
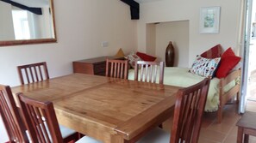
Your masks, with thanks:
<instances>
[{"instance_id":1,"label":"short black ceiling beam above the corner of the walls","mask_svg":"<svg viewBox=\"0 0 256 143\"><path fill-rule=\"evenodd\" d=\"M140 19L140 4L134 0L121 0L123 3L127 3L130 6L131 10L131 19L139 20Z\"/></svg>"}]
</instances>

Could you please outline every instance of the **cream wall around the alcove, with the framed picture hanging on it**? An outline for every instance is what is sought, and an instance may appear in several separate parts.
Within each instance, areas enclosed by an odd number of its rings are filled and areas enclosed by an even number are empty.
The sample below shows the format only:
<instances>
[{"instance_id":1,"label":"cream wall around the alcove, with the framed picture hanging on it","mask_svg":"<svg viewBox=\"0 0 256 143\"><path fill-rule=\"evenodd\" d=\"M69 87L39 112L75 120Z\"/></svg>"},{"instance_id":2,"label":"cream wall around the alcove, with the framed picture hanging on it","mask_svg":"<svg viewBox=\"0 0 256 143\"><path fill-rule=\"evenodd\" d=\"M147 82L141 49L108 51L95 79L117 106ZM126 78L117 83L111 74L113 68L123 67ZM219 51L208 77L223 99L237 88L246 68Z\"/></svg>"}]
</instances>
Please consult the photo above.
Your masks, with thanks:
<instances>
[{"instance_id":1,"label":"cream wall around the alcove, with the framed picture hanging on it","mask_svg":"<svg viewBox=\"0 0 256 143\"><path fill-rule=\"evenodd\" d=\"M231 4L232 3L232 4ZM199 15L201 7L220 6L220 33L200 34ZM190 21L189 25L189 63L195 57L210 47L221 44L223 49L232 46L239 47L237 42L239 30L240 1L239 0L161 0L140 4L140 21L138 21L138 51L146 51L147 23L163 21ZM185 57L180 55L180 57Z\"/></svg>"}]
</instances>

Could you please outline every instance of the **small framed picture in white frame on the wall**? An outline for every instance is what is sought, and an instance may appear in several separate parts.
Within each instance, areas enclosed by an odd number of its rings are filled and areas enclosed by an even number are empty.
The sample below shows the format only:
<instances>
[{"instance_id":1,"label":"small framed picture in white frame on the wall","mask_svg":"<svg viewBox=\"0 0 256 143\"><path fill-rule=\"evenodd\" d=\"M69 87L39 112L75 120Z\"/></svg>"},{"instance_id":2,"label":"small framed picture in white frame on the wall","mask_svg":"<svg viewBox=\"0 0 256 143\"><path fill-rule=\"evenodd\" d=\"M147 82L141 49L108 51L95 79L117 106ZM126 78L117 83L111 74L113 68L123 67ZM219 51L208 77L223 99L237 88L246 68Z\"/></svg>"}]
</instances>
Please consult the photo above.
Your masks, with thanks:
<instances>
[{"instance_id":1,"label":"small framed picture in white frame on the wall","mask_svg":"<svg viewBox=\"0 0 256 143\"><path fill-rule=\"evenodd\" d=\"M200 33L219 33L221 7L200 9Z\"/></svg>"}]
</instances>

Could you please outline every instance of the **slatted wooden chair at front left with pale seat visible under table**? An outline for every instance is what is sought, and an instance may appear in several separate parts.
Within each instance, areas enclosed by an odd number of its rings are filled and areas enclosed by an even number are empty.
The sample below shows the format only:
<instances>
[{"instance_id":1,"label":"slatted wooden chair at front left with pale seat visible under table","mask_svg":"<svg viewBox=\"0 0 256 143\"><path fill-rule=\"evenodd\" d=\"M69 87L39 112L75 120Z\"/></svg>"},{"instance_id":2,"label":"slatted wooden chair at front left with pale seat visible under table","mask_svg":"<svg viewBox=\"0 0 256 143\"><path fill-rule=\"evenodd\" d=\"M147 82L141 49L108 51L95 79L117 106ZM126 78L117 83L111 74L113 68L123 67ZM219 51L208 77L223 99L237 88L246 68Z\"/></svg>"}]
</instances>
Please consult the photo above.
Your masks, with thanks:
<instances>
[{"instance_id":1,"label":"slatted wooden chair at front left with pale seat visible under table","mask_svg":"<svg viewBox=\"0 0 256 143\"><path fill-rule=\"evenodd\" d=\"M60 143L76 141L79 134L59 125L52 102L36 101L17 93L32 142Z\"/></svg>"}]
</instances>

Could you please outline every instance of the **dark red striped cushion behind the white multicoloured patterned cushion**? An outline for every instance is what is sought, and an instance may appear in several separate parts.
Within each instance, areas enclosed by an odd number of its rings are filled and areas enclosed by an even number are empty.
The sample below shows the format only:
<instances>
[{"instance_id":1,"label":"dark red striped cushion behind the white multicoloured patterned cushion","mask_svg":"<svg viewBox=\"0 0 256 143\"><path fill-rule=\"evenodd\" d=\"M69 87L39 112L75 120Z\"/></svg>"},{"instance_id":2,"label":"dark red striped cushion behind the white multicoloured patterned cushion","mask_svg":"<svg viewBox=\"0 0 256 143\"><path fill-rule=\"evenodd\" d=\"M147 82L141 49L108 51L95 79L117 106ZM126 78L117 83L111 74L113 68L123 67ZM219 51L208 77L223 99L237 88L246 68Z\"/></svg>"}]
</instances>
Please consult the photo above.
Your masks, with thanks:
<instances>
[{"instance_id":1,"label":"dark red striped cushion behind the white multicoloured patterned cushion","mask_svg":"<svg viewBox=\"0 0 256 143\"><path fill-rule=\"evenodd\" d=\"M214 47L210 48L208 51L204 51L201 54L201 57L204 58L216 58L222 56L222 45L215 45Z\"/></svg>"}]
</instances>

